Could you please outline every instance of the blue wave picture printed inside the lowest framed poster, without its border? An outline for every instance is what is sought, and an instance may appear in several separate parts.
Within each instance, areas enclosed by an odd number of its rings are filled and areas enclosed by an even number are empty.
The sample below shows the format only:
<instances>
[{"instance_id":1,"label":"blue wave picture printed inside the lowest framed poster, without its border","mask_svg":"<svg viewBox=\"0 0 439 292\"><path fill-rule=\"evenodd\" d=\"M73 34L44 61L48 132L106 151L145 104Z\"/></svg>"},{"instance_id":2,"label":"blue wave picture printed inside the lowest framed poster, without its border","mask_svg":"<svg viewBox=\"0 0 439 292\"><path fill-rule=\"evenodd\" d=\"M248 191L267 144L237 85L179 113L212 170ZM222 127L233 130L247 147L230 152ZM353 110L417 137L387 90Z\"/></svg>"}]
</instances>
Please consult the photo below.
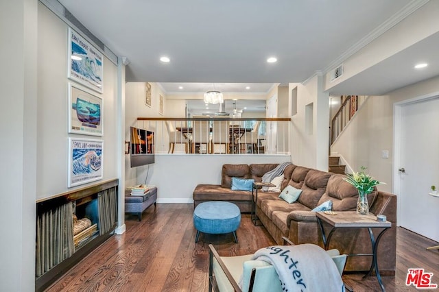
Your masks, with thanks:
<instances>
[{"instance_id":1,"label":"blue wave picture printed inside the lowest framed poster, without its border","mask_svg":"<svg viewBox=\"0 0 439 292\"><path fill-rule=\"evenodd\" d=\"M73 149L74 175L93 173L102 166L102 149Z\"/></svg>"}]
</instances>

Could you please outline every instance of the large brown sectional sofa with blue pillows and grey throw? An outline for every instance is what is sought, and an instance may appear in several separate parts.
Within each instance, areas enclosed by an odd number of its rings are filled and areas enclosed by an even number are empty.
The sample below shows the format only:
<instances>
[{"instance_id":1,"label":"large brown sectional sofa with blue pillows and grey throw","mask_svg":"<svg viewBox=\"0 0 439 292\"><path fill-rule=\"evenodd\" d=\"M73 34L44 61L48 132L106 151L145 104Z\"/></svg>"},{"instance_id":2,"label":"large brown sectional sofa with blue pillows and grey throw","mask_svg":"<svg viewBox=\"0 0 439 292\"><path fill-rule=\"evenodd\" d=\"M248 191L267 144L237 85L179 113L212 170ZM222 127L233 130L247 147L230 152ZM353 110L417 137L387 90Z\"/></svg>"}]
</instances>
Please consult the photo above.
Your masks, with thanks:
<instances>
[{"instance_id":1,"label":"large brown sectional sofa with blue pillows and grey throw","mask_svg":"<svg viewBox=\"0 0 439 292\"><path fill-rule=\"evenodd\" d=\"M205 201L225 200L239 206L241 212L250 212L252 193L230 190L232 177L253 178L261 182L262 175L277 164L223 165L222 184L199 184L193 191L194 206ZM288 204L278 197L278 192L259 191L256 214L276 243L283 244L286 236L296 244L314 243L323 246L322 234L311 210L331 199L335 212L355 210L357 190L343 180L344 175L328 173L307 167L289 165L283 173L281 190L287 185L302 189L298 201ZM396 267L396 195L375 191L368 195L370 212L386 215L392 228L383 234L378 248L378 263L382 276L393 276ZM325 226L329 228L329 226ZM374 228L375 238L380 230ZM344 254L369 254L371 243L365 228L342 228L334 232L329 248L337 248ZM370 256L352 256L346 263L346 271L366 271Z\"/></svg>"}]
</instances>

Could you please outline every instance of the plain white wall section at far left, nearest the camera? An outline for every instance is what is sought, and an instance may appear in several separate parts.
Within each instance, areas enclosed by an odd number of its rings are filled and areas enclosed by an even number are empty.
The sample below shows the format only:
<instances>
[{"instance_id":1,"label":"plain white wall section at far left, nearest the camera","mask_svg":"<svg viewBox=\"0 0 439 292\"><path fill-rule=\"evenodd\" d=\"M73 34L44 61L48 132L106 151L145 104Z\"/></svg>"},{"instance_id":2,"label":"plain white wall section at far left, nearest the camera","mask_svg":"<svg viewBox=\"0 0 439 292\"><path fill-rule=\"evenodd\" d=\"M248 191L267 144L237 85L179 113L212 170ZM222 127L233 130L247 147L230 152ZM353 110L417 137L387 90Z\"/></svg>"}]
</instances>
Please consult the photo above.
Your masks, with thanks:
<instances>
[{"instance_id":1,"label":"plain white wall section at far left, nearest the camera","mask_svg":"<svg viewBox=\"0 0 439 292\"><path fill-rule=\"evenodd\" d=\"M0 2L0 290L34 291L37 1Z\"/></svg>"}]
</instances>

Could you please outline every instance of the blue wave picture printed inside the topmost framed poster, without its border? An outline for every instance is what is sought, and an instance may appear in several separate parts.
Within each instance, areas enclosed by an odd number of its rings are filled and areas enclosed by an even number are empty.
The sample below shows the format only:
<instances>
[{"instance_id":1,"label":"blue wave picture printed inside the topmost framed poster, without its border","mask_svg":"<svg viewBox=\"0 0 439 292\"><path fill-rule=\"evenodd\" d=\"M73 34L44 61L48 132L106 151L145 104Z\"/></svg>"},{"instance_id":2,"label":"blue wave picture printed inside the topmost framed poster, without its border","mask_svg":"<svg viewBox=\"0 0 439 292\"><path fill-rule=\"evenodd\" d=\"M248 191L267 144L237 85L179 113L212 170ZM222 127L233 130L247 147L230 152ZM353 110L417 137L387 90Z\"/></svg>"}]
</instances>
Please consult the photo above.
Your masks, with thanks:
<instances>
[{"instance_id":1,"label":"blue wave picture printed inside the topmost framed poster, without its border","mask_svg":"<svg viewBox=\"0 0 439 292\"><path fill-rule=\"evenodd\" d=\"M85 49L75 42L71 42L71 54L72 56L81 57L81 60L71 60L71 69L90 80L93 80L97 84L102 84L102 62L94 58L91 54L87 53Z\"/></svg>"}]
</instances>

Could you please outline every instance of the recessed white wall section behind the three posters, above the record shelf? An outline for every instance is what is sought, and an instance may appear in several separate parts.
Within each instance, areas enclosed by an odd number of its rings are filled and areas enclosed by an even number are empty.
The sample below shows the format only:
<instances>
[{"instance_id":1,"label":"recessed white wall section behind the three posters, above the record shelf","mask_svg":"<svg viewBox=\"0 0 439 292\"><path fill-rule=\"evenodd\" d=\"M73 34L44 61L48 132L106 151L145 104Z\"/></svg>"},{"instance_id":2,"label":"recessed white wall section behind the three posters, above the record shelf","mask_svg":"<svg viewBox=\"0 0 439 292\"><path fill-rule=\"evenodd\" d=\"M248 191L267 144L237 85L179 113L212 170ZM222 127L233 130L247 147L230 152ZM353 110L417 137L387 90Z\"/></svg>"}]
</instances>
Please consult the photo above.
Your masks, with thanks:
<instances>
[{"instance_id":1,"label":"recessed white wall section behind the three posters, above the record shelf","mask_svg":"<svg viewBox=\"0 0 439 292\"><path fill-rule=\"evenodd\" d=\"M104 141L103 180L117 178L117 66L104 58L102 97L104 135L69 134L67 79L68 26L38 5L38 169L37 198L63 193L67 188L68 138L92 138ZM79 85L78 87L84 88ZM95 183L95 182L93 182ZM84 187L82 184L79 187ZM74 188L70 188L74 189Z\"/></svg>"}]
</instances>

